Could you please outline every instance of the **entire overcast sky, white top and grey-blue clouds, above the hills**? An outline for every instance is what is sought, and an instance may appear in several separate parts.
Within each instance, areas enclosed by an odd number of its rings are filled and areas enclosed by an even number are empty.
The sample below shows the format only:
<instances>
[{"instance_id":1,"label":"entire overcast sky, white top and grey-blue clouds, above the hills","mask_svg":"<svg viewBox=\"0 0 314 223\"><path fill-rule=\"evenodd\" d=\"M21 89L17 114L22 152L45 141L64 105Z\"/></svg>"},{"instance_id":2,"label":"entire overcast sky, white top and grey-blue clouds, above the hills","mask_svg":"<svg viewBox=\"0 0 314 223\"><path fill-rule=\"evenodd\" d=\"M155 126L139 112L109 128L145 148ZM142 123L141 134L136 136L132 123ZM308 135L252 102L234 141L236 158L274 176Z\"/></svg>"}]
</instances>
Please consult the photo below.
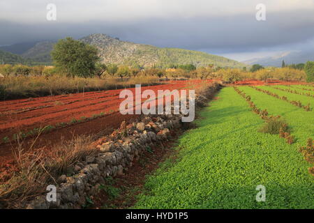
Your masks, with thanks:
<instances>
[{"instance_id":1,"label":"entire overcast sky, white top and grey-blue clouds, above the hills","mask_svg":"<svg viewBox=\"0 0 314 223\"><path fill-rule=\"evenodd\" d=\"M48 21L47 4L57 6ZM255 7L266 6L266 21ZM314 49L314 0L1 0L0 45L106 33L239 61Z\"/></svg>"}]
</instances>

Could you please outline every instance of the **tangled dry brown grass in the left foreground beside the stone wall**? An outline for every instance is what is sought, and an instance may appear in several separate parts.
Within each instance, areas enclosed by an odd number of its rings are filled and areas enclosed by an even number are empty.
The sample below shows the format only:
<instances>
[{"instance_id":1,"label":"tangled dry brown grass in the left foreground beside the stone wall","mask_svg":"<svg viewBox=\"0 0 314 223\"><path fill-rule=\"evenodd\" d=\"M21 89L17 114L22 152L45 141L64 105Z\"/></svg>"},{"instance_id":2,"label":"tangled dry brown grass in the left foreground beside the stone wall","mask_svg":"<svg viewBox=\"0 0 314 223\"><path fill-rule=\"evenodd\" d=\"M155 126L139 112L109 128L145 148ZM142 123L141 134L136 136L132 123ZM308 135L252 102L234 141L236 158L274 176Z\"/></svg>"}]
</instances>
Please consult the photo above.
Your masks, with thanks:
<instances>
[{"instance_id":1,"label":"tangled dry brown grass in the left foreground beside the stone wall","mask_svg":"<svg viewBox=\"0 0 314 223\"><path fill-rule=\"evenodd\" d=\"M57 185L57 178L68 167L96 153L91 147L94 140L94 136L82 135L61 142L52 151L26 149L19 143L14 152L15 171L0 179L0 208L21 208L25 201L43 194L47 185Z\"/></svg>"}]
</instances>

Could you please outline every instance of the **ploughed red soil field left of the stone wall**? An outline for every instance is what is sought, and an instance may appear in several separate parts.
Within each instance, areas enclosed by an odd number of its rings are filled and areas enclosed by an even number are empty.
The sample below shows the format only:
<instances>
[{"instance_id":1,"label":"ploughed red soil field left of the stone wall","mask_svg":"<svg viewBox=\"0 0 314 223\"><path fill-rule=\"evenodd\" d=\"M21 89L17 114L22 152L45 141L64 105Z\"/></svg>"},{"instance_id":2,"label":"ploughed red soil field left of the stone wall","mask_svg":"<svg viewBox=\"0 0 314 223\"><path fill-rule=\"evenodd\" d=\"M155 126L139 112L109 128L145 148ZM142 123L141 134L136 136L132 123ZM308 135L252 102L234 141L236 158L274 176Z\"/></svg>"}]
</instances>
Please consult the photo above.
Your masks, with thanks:
<instances>
[{"instance_id":1,"label":"ploughed red soil field left of the stone wall","mask_svg":"<svg viewBox=\"0 0 314 223\"><path fill-rule=\"evenodd\" d=\"M202 83L210 82L212 81L172 81L156 86L142 86L142 91L151 89L157 95L158 90L195 89ZM70 123L73 118L76 120L82 117L90 118L103 112L104 116L73 123L62 128L54 128L51 132L40 134L35 147L49 149L61 139L72 139L73 136L80 134L111 133L113 128L119 128L122 121L136 117L136 115L124 116L119 113L119 105L124 100L119 98L119 93L122 90L94 91L0 102L1 164L8 163L13 159L12 149L16 147L13 140L8 143L3 141L3 138L12 139L13 134L18 132L29 132L34 128L44 128L47 125ZM135 89L129 90L135 96ZM143 99L142 102L144 100L146 99ZM33 138L24 139L26 148L33 142Z\"/></svg>"}]
</instances>

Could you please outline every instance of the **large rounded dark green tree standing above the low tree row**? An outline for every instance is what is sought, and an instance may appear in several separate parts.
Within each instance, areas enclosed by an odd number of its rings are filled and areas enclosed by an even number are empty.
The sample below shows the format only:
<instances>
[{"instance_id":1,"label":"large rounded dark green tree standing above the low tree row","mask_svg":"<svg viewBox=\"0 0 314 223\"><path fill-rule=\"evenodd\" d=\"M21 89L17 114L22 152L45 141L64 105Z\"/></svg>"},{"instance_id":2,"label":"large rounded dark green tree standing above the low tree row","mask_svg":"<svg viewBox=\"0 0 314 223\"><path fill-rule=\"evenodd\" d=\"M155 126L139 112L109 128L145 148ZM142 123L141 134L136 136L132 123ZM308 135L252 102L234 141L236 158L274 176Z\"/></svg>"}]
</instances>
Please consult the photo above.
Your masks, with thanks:
<instances>
[{"instance_id":1,"label":"large rounded dark green tree standing above the low tree row","mask_svg":"<svg viewBox=\"0 0 314 223\"><path fill-rule=\"evenodd\" d=\"M71 77L95 75L96 62L99 61L96 47L70 37L59 40L51 56L54 66Z\"/></svg>"}]
</instances>

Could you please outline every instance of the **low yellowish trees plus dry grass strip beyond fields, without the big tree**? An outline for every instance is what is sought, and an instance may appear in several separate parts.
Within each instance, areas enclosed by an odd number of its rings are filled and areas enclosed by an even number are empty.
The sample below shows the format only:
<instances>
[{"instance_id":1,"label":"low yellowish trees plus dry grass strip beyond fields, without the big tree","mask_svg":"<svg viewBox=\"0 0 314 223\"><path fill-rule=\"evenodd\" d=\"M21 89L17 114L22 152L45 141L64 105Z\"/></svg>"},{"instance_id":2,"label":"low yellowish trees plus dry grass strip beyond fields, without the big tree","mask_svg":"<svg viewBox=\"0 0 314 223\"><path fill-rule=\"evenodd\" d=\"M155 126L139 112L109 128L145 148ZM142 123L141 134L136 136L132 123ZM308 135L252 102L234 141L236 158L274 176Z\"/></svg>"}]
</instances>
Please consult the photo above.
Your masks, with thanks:
<instances>
[{"instance_id":1,"label":"low yellowish trees plus dry grass strip beyond fields, without the big tree","mask_svg":"<svg viewBox=\"0 0 314 223\"><path fill-rule=\"evenodd\" d=\"M186 68L186 70L184 70ZM304 70L292 68L262 69L248 72L241 69L209 67L140 70L128 66L96 65L94 75L67 75L52 66L0 65L4 77L0 82L0 99L29 98L45 95L59 95L83 91L121 89L134 84L156 84L168 79L220 79L225 83L245 79L300 81L306 79ZM278 90L279 93L281 91ZM306 97L306 96L304 96ZM308 97L307 97L308 98Z\"/></svg>"}]
</instances>

